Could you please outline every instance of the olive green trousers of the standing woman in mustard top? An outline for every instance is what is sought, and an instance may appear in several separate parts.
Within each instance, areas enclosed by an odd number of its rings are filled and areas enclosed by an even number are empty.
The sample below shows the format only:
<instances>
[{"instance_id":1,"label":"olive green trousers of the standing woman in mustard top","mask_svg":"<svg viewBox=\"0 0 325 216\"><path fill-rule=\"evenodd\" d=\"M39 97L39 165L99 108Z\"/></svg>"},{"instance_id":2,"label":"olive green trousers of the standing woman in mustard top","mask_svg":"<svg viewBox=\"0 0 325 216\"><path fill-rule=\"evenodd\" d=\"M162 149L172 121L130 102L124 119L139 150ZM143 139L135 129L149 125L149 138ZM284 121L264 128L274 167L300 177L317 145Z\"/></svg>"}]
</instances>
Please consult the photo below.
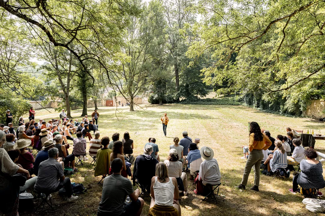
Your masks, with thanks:
<instances>
[{"instance_id":1,"label":"olive green trousers of the standing woman in mustard top","mask_svg":"<svg viewBox=\"0 0 325 216\"><path fill-rule=\"evenodd\" d=\"M263 157L264 155L262 153L262 150L253 149L253 151L249 154L244 168L243 179L241 180L242 185L247 185L248 176L253 166L255 173L254 186L258 187L260 185L260 165Z\"/></svg>"}]
</instances>

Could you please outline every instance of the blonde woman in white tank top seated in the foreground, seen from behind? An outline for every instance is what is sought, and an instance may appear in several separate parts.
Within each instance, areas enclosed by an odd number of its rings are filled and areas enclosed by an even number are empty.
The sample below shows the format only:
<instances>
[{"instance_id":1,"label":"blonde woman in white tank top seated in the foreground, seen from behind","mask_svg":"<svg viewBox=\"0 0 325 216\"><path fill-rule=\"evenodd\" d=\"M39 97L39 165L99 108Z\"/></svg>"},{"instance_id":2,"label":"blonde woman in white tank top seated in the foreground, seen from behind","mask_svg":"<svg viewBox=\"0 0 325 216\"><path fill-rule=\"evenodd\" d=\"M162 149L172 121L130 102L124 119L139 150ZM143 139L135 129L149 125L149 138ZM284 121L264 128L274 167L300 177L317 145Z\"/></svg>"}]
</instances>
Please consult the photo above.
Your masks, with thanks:
<instances>
[{"instance_id":1,"label":"blonde woman in white tank top seated in the foreground, seen from behind","mask_svg":"<svg viewBox=\"0 0 325 216\"><path fill-rule=\"evenodd\" d=\"M156 176L151 179L151 202L148 216L181 216L178 198L176 178L168 176L168 169L164 163L157 164Z\"/></svg>"}]
</instances>

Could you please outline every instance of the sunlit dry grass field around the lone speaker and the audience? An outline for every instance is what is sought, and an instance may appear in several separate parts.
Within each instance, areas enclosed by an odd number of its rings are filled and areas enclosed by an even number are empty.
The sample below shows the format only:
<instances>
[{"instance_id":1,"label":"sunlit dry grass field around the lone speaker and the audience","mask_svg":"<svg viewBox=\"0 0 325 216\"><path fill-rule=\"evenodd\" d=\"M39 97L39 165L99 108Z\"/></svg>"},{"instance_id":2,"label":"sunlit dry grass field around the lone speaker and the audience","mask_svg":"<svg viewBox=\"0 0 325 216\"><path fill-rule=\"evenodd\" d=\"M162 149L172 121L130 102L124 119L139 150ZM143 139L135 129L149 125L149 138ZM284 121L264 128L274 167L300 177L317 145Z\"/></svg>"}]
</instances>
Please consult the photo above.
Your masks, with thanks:
<instances>
[{"instance_id":1,"label":"sunlit dry grass field around the lone speaker and the audience","mask_svg":"<svg viewBox=\"0 0 325 216\"><path fill-rule=\"evenodd\" d=\"M53 111L53 110L52 110ZM90 115L93 109L88 110ZM261 175L260 192L251 190L240 191L235 186L240 184L246 160L242 156L241 145L248 144L248 122L256 121L261 128L269 130L271 136L284 135L285 128L291 127L296 130L313 129L314 132L321 131L325 134L325 124L313 119L289 118L279 115L260 112L251 108L241 106L223 105L165 105L152 106L145 110L129 112L128 107L99 108L99 130L101 137L109 136L114 132L120 133L120 139L125 131L129 131L131 139L134 140L134 155L143 153L143 146L149 137L155 137L159 145L161 161L167 158L169 145L173 138L181 138L182 131L188 131L193 140L200 138L200 147L209 146L214 150L214 158L217 159L222 175L218 204L201 202L203 197L193 193L194 186L189 182L189 194L181 197L180 205L182 215L315 215L305 209L302 204L302 195L291 194L288 189L292 187L292 176L289 179L274 179ZM163 136L160 117L164 112L169 116L167 137ZM48 120L59 118L56 112L49 113L39 110L36 114L48 115L42 119ZM78 119L80 110L72 113ZM119 119L117 119L117 117ZM136 134L135 134L136 133ZM89 148L89 146L88 146ZM317 151L325 153L325 141L316 141ZM90 158L90 157L89 157ZM67 203L53 194L55 211L47 212L48 215L96 215L98 203L101 197L102 185L97 182L100 177L94 177L94 167L90 161L85 162L83 168L73 176L69 176L72 182L83 183L88 188L88 193L79 196L75 203ZM247 188L253 186L253 170L249 177ZM323 193L325 190L323 191ZM142 215L147 215L150 200L145 199ZM190 206L192 210L185 208ZM28 214L24 214L28 215ZM37 215L32 213L29 215ZM319 214L320 215L320 214Z\"/></svg>"}]
</instances>

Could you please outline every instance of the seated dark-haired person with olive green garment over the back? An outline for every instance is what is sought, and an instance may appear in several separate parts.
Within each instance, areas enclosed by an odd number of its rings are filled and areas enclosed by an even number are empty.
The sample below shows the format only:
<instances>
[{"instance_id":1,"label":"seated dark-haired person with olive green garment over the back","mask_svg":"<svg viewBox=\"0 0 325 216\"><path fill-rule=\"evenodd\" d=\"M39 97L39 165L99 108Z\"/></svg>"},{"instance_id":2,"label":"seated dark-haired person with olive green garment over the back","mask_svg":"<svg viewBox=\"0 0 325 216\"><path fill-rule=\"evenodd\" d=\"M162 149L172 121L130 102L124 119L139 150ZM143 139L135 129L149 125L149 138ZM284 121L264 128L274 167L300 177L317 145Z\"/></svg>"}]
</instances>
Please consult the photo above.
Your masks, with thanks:
<instances>
[{"instance_id":1,"label":"seated dark-haired person with olive green garment over the back","mask_svg":"<svg viewBox=\"0 0 325 216\"><path fill-rule=\"evenodd\" d=\"M99 131L96 131L95 136L97 132L99 134ZM96 154L95 177L108 175L110 173L110 154L112 150L108 148L109 143L109 137L103 137L100 141L99 145L102 145L103 148L98 149Z\"/></svg>"}]
</instances>

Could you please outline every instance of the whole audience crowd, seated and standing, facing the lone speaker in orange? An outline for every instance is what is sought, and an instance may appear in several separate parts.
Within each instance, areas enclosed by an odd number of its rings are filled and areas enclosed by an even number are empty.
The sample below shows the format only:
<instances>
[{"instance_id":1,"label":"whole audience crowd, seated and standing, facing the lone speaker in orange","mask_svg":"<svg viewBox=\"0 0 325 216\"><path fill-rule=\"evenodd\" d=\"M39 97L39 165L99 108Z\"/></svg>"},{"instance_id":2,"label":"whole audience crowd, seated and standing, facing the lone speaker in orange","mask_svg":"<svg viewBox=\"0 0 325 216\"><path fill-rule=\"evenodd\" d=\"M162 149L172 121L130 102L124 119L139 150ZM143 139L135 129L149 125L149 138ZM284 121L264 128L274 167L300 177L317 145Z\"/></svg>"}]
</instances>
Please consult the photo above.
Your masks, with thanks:
<instances>
[{"instance_id":1,"label":"whole audience crowd, seated and standing, facing the lone speaker in orange","mask_svg":"<svg viewBox=\"0 0 325 216\"><path fill-rule=\"evenodd\" d=\"M10 110L6 111L7 125L0 125L0 210L5 215L19 215L19 193L28 188L33 189L41 199L50 199L51 193L61 188L65 189L68 202L78 199L73 195L71 181L64 172L69 167L77 171L76 161L88 160L86 137L89 140L88 155L95 165L94 176L101 176L103 180L98 216L139 216L144 205L144 200L140 198L142 193L151 196L148 215L181 216L178 200L180 196L189 194L187 172L189 179L196 184L195 194L207 195L213 186L221 184L213 149L206 146L199 148L200 139L192 142L187 131L182 133L181 140L178 137L173 139L169 156L163 161L156 139L150 137L143 146L143 154L138 155L133 164L134 141L130 134L125 132L122 141L119 133L112 135L112 141L108 136L100 139L97 110L92 113L91 119L85 116L81 122L78 119L72 122L64 109L60 119L48 122L43 119L35 122L32 108L29 113L29 122L19 118L17 131L14 130ZM290 170L294 170L293 166L299 166L301 171L293 172L289 191L303 193L315 188L317 195L322 196L319 189L325 187L325 181L322 165L316 160L318 155L313 148L305 149L297 135L296 131L287 128L285 136L277 135L275 139L270 131L261 130L258 123L251 122L249 144L241 146L241 158L246 159L246 165L237 188L245 189L252 168L254 186L251 189L259 191L260 169L266 176L281 175L281 170L284 170L282 176L288 177ZM134 186L139 186L141 191L134 190Z\"/></svg>"}]
</instances>

